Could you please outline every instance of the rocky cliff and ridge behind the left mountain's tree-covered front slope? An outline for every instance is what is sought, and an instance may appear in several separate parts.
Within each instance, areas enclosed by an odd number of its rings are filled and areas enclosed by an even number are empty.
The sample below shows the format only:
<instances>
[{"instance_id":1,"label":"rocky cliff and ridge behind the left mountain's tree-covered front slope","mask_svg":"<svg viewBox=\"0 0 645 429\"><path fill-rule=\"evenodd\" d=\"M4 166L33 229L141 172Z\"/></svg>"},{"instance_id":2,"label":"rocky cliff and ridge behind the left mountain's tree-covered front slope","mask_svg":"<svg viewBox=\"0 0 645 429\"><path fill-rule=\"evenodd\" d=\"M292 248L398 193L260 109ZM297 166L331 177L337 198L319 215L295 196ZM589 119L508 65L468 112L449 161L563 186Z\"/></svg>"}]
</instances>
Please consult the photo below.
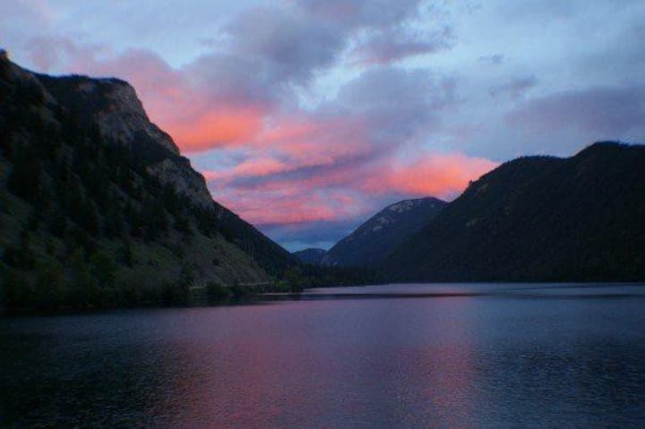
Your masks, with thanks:
<instances>
[{"instance_id":1,"label":"rocky cliff and ridge behind the left mountain's tree-covered front slope","mask_svg":"<svg viewBox=\"0 0 645 429\"><path fill-rule=\"evenodd\" d=\"M81 127L98 126L105 141L131 148L146 171L162 184L172 184L203 209L216 210L221 229L228 230L228 238L251 254L264 270L278 274L297 263L280 245L213 202L202 175L193 170L188 159L180 156L172 138L150 123L141 101L127 82L85 76L36 74L36 77Z\"/></svg>"}]
</instances>

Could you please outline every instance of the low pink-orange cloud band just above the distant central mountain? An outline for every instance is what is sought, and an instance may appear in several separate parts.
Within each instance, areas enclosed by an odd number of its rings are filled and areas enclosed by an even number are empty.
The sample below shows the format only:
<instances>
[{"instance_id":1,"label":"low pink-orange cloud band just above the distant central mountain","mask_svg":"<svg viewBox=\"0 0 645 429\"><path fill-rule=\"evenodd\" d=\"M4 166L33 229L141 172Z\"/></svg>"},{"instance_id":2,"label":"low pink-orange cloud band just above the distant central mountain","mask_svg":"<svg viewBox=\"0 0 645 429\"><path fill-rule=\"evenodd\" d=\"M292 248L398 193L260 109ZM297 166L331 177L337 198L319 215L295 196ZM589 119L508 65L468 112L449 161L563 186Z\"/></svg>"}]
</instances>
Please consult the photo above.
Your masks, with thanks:
<instances>
[{"instance_id":1,"label":"low pink-orange cloud band just above the distant central mountain","mask_svg":"<svg viewBox=\"0 0 645 429\"><path fill-rule=\"evenodd\" d=\"M414 196L452 199L470 180L496 164L461 154L425 154L370 166L331 164L305 176L271 159L245 161L229 171L207 174L216 199L228 202L256 225L287 225L365 217L381 205ZM236 184L236 179L251 179ZM382 203L375 203L381 202ZM381 205L379 205L381 204Z\"/></svg>"}]
</instances>

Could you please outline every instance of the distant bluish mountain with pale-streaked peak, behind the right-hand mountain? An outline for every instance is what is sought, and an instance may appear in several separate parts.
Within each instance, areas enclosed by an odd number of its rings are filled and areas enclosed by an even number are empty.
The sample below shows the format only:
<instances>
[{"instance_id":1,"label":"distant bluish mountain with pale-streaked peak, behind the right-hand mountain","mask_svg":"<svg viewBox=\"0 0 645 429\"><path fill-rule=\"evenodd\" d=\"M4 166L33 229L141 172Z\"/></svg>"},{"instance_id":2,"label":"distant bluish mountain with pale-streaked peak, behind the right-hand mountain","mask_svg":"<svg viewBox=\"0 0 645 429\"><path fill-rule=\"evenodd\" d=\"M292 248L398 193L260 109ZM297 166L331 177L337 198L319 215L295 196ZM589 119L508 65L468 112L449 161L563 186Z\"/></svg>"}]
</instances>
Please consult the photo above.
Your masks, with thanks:
<instances>
[{"instance_id":1,"label":"distant bluish mountain with pale-streaked peak, behind the right-hand mountain","mask_svg":"<svg viewBox=\"0 0 645 429\"><path fill-rule=\"evenodd\" d=\"M375 267L397 245L424 227L445 205L446 202L433 197L391 204L331 247L321 263Z\"/></svg>"}]
</instances>

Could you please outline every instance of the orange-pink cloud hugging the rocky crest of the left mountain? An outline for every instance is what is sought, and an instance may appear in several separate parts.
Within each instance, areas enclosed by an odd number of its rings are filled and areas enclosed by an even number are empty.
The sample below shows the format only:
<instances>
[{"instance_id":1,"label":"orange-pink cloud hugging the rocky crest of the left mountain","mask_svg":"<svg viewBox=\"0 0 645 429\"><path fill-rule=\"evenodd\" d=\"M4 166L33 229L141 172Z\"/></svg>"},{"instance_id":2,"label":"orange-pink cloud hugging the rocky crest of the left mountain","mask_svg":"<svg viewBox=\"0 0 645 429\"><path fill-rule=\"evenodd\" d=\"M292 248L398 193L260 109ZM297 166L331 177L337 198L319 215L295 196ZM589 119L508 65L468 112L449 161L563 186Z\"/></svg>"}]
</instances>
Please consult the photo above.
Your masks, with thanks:
<instances>
[{"instance_id":1,"label":"orange-pink cloud hugging the rocky crest of the left mountain","mask_svg":"<svg viewBox=\"0 0 645 429\"><path fill-rule=\"evenodd\" d=\"M129 49L102 57L98 50L82 50L72 40L52 41L56 56L69 56L71 71L130 82L150 119L173 137L180 150L199 152L252 142L270 114L253 99L218 97L208 88L195 87L188 73L172 68L149 50Z\"/></svg>"}]
</instances>

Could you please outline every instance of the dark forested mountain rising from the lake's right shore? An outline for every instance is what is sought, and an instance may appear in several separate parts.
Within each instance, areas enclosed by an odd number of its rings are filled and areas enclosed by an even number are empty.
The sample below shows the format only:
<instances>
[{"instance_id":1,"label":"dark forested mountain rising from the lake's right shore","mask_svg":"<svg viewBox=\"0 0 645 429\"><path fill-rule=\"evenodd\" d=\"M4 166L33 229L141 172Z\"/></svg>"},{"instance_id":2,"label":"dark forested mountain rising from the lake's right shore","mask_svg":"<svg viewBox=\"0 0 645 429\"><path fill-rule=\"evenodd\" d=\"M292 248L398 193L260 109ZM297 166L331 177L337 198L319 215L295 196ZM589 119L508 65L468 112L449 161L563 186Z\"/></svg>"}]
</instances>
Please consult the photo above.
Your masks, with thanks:
<instances>
[{"instance_id":1,"label":"dark forested mountain rising from the lake's right shore","mask_svg":"<svg viewBox=\"0 0 645 429\"><path fill-rule=\"evenodd\" d=\"M645 146L598 142L482 176L384 262L393 280L645 279Z\"/></svg>"}]
</instances>

